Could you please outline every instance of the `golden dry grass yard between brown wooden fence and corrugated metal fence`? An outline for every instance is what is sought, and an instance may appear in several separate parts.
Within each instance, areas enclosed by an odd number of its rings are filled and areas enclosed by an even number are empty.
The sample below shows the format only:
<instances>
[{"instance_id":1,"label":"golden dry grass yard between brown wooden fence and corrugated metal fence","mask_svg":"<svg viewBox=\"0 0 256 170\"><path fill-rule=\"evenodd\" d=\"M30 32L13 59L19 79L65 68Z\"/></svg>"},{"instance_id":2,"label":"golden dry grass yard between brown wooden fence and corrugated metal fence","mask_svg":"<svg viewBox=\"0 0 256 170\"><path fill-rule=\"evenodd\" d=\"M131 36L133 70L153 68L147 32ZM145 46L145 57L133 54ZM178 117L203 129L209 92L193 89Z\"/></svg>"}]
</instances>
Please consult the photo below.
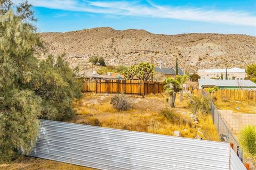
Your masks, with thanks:
<instances>
[{"instance_id":1,"label":"golden dry grass yard between brown wooden fence and corrugated metal fence","mask_svg":"<svg viewBox=\"0 0 256 170\"><path fill-rule=\"evenodd\" d=\"M148 95L146 98L127 96L132 108L129 111L117 111L109 104L112 95L85 95L75 104L77 116L72 123L98 125L107 128L149 132L173 135L175 130L181 132L182 137L201 137L205 140L219 141L210 115L198 115L198 123L190 117L188 100L184 97L175 101L175 120L170 121L160 112L169 107L165 94Z\"/></svg>"}]
</instances>

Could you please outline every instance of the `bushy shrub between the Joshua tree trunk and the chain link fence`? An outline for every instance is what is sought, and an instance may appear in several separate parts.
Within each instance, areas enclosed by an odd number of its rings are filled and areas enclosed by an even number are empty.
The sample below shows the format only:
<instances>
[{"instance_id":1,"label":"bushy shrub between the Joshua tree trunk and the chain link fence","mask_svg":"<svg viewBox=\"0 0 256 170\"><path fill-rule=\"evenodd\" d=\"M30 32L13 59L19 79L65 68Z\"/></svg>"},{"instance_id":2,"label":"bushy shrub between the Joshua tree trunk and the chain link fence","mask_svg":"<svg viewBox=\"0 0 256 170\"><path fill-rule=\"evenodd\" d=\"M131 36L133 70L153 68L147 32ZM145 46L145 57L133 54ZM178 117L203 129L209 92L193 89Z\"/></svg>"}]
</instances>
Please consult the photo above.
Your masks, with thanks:
<instances>
[{"instance_id":1,"label":"bushy shrub between the Joshua tree trunk and the chain link fence","mask_svg":"<svg viewBox=\"0 0 256 170\"><path fill-rule=\"evenodd\" d=\"M203 95L187 95L189 103L188 107L194 114L201 112L202 114L210 113L210 98Z\"/></svg>"}]
</instances>

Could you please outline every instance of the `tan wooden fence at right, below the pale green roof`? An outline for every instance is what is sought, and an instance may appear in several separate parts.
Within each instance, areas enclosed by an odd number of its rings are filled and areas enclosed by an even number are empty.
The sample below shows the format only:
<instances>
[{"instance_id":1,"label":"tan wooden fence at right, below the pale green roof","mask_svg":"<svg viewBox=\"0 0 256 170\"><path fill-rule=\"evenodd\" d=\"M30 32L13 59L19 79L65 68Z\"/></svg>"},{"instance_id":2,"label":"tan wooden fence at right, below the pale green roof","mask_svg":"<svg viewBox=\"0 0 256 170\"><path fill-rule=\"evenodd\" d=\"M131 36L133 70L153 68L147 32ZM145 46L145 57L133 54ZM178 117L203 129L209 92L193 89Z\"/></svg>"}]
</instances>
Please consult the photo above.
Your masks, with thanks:
<instances>
[{"instance_id":1,"label":"tan wooden fence at right, below the pale green roof","mask_svg":"<svg viewBox=\"0 0 256 170\"><path fill-rule=\"evenodd\" d=\"M205 89L205 91L207 91L207 89ZM256 101L255 90L220 89L215 91L213 96L219 99L227 98L230 100Z\"/></svg>"}]
</instances>

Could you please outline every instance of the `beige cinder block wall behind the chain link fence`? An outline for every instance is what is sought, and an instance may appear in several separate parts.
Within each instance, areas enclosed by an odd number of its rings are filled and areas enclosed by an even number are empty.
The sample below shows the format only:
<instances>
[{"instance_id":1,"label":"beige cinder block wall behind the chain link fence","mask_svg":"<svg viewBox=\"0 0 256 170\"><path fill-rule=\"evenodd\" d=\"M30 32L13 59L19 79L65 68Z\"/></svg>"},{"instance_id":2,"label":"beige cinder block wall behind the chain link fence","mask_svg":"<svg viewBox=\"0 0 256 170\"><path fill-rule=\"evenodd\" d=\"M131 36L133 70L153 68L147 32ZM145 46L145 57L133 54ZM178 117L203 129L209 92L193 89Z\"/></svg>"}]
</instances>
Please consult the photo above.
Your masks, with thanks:
<instances>
[{"instance_id":1,"label":"beige cinder block wall behind the chain link fence","mask_svg":"<svg viewBox=\"0 0 256 170\"><path fill-rule=\"evenodd\" d=\"M243 126L256 125L256 114L233 113L233 111L229 110L218 111L234 134L238 134Z\"/></svg>"}]
</instances>

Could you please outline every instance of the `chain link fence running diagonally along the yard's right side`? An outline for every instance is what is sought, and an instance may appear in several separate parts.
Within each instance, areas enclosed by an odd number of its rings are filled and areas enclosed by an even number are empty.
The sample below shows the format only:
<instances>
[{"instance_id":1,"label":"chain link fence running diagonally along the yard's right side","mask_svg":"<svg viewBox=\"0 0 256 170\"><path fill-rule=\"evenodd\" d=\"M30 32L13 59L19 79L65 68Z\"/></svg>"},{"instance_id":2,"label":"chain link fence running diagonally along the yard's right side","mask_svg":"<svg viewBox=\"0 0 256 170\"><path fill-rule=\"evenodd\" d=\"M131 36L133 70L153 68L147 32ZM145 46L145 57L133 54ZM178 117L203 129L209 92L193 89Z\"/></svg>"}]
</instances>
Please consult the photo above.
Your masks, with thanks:
<instances>
[{"instance_id":1,"label":"chain link fence running diagonally along the yard's right side","mask_svg":"<svg viewBox=\"0 0 256 170\"><path fill-rule=\"evenodd\" d=\"M202 90L202 94L204 96L207 96L207 94L204 90ZM220 112L218 111L217 107L214 105L212 99L210 99L210 103L211 103L212 121L213 121L214 125L216 126L216 128L219 132L219 135L221 137L221 141L232 143L231 145L234 145L233 148L234 148L237 156L243 162L243 150L239 146L239 143L238 143L237 139L231 133L230 128L228 127L227 123L223 120Z\"/></svg>"}]
</instances>

